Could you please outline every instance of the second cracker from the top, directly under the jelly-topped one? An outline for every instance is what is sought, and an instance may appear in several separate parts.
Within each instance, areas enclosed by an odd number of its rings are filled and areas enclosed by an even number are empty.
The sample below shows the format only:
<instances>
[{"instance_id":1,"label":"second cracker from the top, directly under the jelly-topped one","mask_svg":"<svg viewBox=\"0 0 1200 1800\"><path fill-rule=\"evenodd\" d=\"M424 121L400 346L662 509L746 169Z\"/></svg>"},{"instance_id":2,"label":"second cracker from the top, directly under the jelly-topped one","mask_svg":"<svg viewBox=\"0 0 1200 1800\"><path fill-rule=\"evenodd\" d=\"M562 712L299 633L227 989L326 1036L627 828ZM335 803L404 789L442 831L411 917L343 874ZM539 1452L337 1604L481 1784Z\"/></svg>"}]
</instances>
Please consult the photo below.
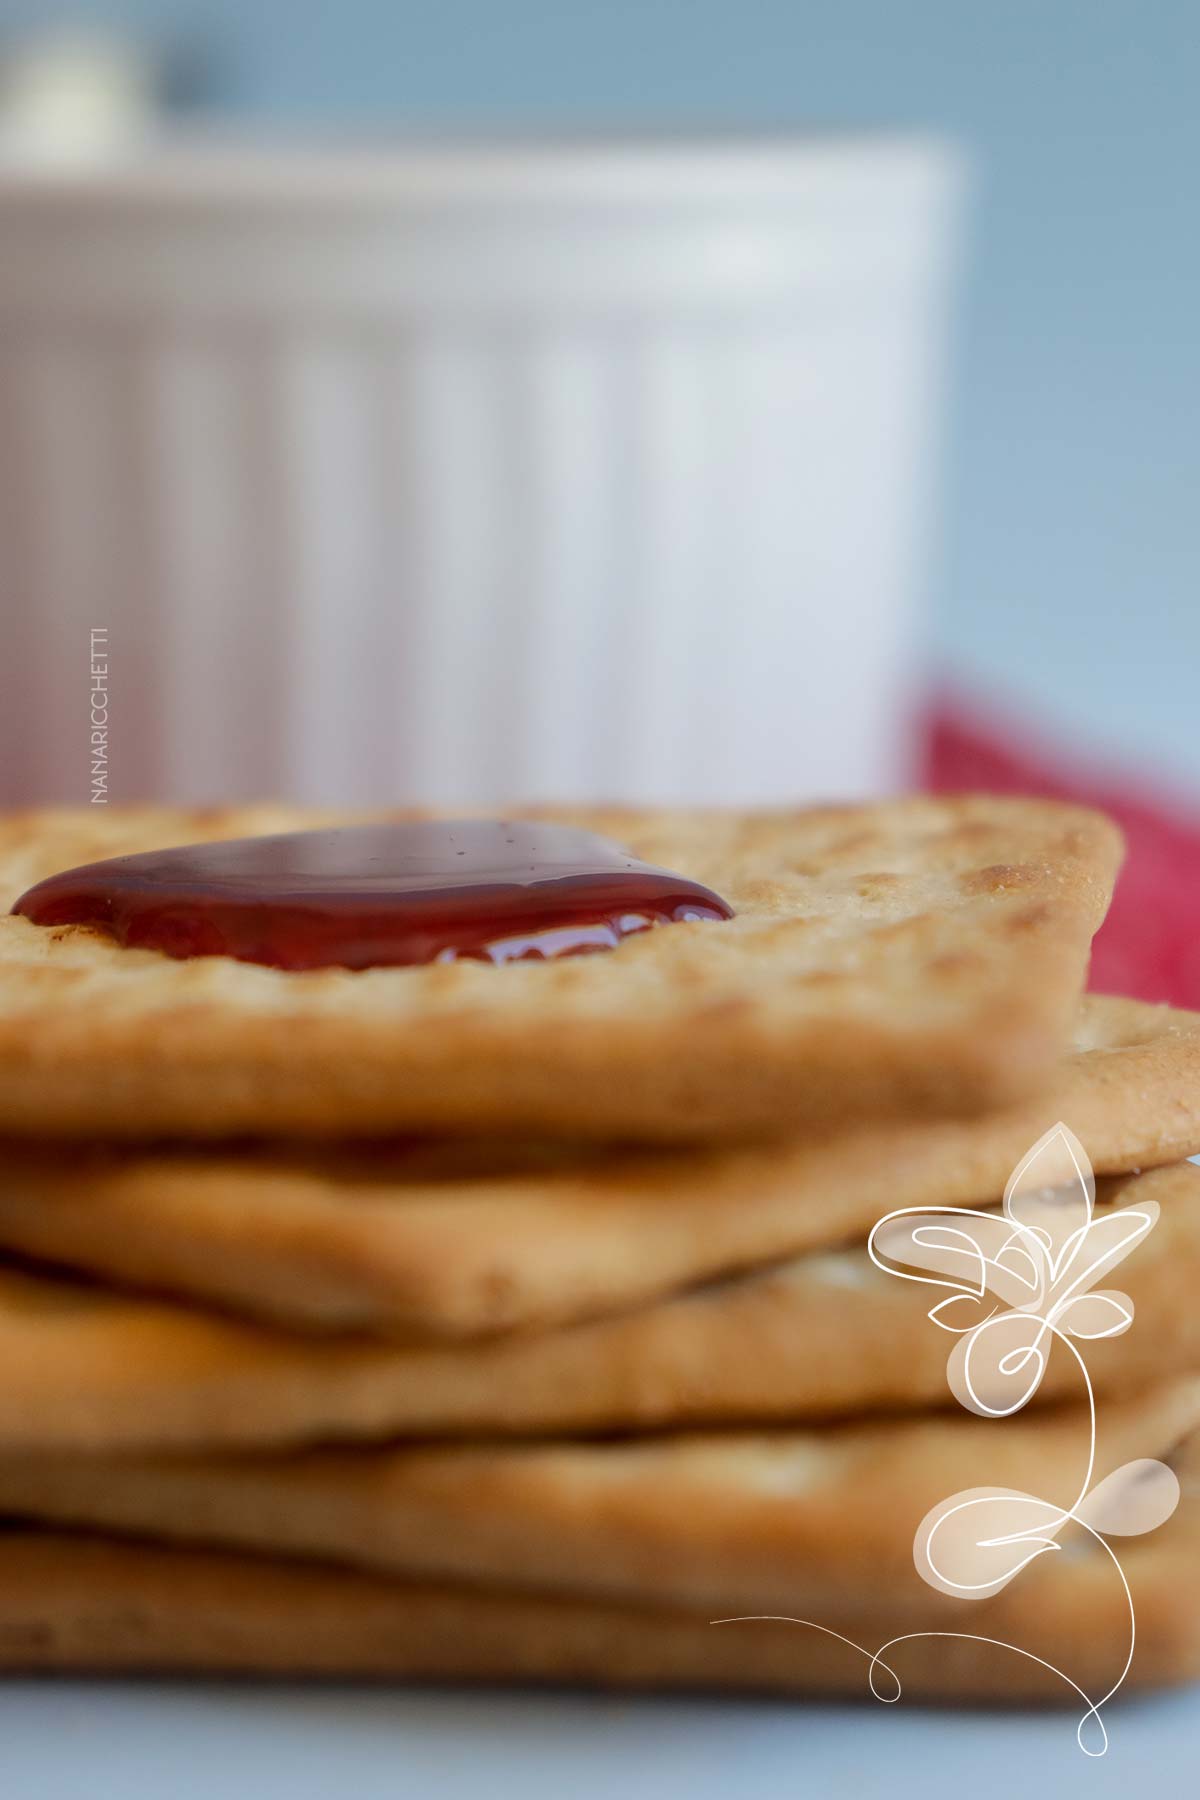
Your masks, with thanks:
<instances>
[{"instance_id":1,"label":"second cracker from the top, directly under the jelly-topped one","mask_svg":"<svg viewBox=\"0 0 1200 1800\"><path fill-rule=\"evenodd\" d=\"M1200 1150L1200 1015L1088 997L1033 1100L759 1148L0 1147L0 1246L304 1328L470 1337L644 1305L896 1206L997 1201L1058 1120L1099 1174Z\"/></svg>"}]
</instances>

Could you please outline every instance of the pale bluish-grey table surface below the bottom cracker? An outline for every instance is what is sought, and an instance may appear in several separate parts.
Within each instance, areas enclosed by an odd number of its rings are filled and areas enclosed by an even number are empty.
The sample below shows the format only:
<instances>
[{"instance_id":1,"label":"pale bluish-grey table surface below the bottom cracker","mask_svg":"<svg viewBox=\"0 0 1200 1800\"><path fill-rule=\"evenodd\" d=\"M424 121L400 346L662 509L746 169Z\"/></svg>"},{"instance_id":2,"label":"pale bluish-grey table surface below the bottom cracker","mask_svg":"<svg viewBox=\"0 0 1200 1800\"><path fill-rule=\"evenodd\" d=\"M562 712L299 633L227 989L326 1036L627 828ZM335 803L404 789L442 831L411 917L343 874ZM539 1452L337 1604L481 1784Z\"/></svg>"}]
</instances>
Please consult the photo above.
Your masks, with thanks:
<instances>
[{"instance_id":1,"label":"pale bluish-grey table surface below the bottom cracker","mask_svg":"<svg viewBox=\"0 0 1200 1800\"><path fill-rule=\"evenodd\" d=\"M1177 1795L1200 1690L1076 1714L563 1694L40 1683L0 1687L5 1800L1038 1800Z\"/></svg>"}]
</instances>

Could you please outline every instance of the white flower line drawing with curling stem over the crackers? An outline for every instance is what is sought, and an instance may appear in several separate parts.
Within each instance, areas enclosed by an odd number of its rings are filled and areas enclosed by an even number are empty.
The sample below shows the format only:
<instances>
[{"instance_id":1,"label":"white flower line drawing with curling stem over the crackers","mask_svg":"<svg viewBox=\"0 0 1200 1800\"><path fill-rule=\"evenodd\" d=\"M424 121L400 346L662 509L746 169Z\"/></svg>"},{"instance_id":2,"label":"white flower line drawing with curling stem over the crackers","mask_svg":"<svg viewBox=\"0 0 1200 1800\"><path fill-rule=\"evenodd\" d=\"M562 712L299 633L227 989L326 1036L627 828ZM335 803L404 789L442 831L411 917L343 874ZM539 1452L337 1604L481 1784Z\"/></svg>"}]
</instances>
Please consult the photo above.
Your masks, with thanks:
<instances>
[{"instance_id":1,"label":"white flower line drawing with curling stem over the crackers","mask_svg":"<svg viewBox=\"0 0 1200 1800\"><path fill-rule=\"evenodd\" d=\"M1085 1705L1076 1728L1079 1750L1103 1757L1108 1730L1101 1708L1119 1692L1133 1661L1137 1622L1124 1570L1108 1535L1137 1535L1171 1517L1180 1489L1175 1472L1153 1458L1135 1458L1092 1487L1096 1471L1096 1393L1076 1339L1119 1337L1133 1323L1133 1303L1115 1289L1092 1292L1094 1283L1139 1244L1159 1219L1159 1206L1142 1201L1096 1217L1096 1181L1079 1139L1061 1121L1020 1159L1004 1190L1000 1211L970 1206L907 1206L880 1219L867 1251L885 1274L923 1282L950 1292L928 1312L955 1345L946 1379L955 1399L982 1418L1009 1418L1033 1399L1054 1341L1074 1357L1088 1408L1088 1453L1079 1492L1070 1507L1052 1505L1015 1489L979 1487L950 1494L916 1528L912 1559L932 1588L964 1598L986 1598L1007 1586L1038 1557L1056 1552L1058 1534L1078 1525L1108 1555L1124 1591L1130 1642L1124 1665L1106 1694L1090 1699L1063 1670L1018 1643L972 1631L910 1631L889 1638L878 1651L810 1618L756 1613L712 1620L714 1625L774 1620L806 1625L838 1638L869 1661L871 1692L885 1705L901 1697L885 1652L916 1638L970 1638L1025 1656L1049 1669ZM898 1267L905 1264L907 1267ZM923 1273L912 1273L919 1269ZM988 1300L993 1303L990 1310ZM891 1676L896 1692L882 1694L876 1670ZM1097 1728L1096 1748L1085 1733Z\"/></svg>"}]
</instances>

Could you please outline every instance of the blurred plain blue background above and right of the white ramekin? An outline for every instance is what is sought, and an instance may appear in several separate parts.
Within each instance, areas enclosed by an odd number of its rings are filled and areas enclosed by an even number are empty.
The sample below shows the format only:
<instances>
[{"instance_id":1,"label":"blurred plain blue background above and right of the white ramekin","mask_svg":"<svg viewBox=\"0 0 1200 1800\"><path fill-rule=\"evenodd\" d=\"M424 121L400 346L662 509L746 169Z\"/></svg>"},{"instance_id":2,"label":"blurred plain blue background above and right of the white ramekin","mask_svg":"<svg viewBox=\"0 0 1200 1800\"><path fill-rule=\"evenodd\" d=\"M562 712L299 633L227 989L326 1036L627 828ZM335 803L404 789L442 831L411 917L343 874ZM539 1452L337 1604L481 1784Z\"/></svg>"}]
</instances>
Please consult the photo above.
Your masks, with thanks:
<instances>
[{"instance_id":1,"label":"blurred plain blue background above and right of the white ramekin","mask_svg":"<svg viewBox=\"0 0 1200 1800\"><path fill-rule=\"evenodd\" d=\"M1081 747L1200 778L1195 0L94 0L193 115L919 128L975 173L937 664Z\"/></svg>"}]
</instances>

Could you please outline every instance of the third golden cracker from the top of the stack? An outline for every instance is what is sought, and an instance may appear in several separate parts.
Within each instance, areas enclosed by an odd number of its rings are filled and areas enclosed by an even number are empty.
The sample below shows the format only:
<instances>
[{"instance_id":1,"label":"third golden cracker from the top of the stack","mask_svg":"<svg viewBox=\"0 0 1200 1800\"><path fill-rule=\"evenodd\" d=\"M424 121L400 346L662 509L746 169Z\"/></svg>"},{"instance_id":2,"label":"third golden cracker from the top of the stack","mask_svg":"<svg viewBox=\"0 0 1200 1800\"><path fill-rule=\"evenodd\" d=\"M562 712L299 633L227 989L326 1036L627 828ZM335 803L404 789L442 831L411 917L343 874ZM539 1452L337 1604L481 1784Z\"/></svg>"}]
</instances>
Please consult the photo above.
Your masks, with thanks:
<instances>
[{"instance_id":1,"label":"third golden cracker from the top of the stack","mask_svg":"<svg viewBox=\"0 0 1200 1800\"><path fill-rule=\"evenodd\" d=\"M1200 1370L1200 1168L1101 1183L1097 1215L1157 1201L1121 1264L1133 1330L1088 1346L1099 1395ZM817 1420L952 1406L930 1292L862 1247L811 1251L673 1300L457 1345L336 1341L0 1269L0 1456L266 1449ZM1034 1404L1076 1399L1051 1355Z\"/></svg>"}]
</instances>

